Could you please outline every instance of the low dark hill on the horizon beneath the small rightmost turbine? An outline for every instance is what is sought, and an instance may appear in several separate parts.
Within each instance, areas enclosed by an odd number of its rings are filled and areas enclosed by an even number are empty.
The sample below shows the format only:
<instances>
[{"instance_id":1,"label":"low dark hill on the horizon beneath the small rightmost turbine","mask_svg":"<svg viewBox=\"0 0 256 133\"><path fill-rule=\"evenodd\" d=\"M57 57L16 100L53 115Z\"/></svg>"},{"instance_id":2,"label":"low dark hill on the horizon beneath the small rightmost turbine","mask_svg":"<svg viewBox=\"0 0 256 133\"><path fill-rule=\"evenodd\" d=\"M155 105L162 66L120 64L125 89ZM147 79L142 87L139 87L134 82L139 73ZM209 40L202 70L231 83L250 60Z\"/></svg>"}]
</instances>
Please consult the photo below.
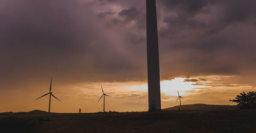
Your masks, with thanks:
<instances>
[{"instance_id":1,"label":"low dark hill on the horizon beneath the small rightmost turbine","mask_svg":"<svg viewBox=\"0 0 256 133\"><path fill-rule=\"evenodd\" d=\"M188 104L188 105L177 105L175 107L166 108L163 110L236 110L237 105L211 105L211 104Z\"/></svg>"}]
</instances>

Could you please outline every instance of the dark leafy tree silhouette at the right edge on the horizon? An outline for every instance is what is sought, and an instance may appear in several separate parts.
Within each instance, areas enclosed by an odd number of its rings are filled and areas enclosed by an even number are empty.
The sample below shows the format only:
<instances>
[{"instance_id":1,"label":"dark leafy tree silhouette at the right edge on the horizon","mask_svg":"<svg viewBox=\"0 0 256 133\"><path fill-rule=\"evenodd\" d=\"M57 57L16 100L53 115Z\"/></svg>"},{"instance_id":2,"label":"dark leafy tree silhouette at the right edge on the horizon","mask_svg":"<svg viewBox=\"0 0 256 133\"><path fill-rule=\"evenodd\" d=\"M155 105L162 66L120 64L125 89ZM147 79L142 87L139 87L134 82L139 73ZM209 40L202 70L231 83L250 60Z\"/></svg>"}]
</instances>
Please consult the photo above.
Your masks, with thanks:
<instances>
[{"instance_id":1,"label":"dark leafy tree silhouette at the right edge on the horizon","mask_svg":"<svg viewBox=\"0 0 256 133\"><path fill-rule=\"evenodd\" d=\"M237 102L240 109L256 109L256 92L243 92L237 95L236 99L229 101Z\"/></svg>"}]
</instances>

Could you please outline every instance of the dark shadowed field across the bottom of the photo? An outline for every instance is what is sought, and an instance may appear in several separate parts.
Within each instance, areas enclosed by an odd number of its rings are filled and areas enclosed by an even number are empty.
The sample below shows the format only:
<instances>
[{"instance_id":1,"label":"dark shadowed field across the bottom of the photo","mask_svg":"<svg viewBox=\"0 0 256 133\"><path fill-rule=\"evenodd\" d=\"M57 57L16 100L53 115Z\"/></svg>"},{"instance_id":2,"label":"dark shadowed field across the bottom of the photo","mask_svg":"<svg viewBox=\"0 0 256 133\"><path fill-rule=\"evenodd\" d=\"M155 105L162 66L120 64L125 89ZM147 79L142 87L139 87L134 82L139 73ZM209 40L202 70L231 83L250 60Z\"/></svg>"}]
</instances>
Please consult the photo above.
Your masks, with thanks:
<instances>
[{"instance_id":1,"label":"dark shadowed field across the bottom of the photo","mask_svg":"<svg viewBox=\"0 0 256 133\"><path fill-rule=\"evenodd\" d=\"M256 132L256 110L15 114L0 115L0 127L4 132Z\"/></svg>"}]
</instances>

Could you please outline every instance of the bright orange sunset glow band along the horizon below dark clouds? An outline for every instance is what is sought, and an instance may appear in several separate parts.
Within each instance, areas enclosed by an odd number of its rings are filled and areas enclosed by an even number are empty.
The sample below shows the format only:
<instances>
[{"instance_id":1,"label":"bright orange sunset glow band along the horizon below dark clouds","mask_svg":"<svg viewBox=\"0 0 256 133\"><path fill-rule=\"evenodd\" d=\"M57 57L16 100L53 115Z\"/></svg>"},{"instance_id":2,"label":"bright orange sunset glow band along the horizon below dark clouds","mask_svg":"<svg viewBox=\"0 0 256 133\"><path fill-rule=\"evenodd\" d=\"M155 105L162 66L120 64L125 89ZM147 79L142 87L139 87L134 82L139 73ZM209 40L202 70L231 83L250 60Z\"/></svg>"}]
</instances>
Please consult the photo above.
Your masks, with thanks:
<instances>
[{"instance_id":1,"label":"bright orange sunset glow band along the horizon below dark clouds","mask_svg":"<svg viewBox=\"0 0 256 133\"><path fill-rule=\"evenodd\" d=\"M241 91L251 91L253 86L246 84L230 84L229 79L234 76L212 75L202 77L177 77L161 82L162 108L173 107L180 95L185 99L182 104L207 103L207 104L230 104L229 99ZM186 81L189 80L190 81ZM191 82L197 79L197 82ZM203 79L203 81L202 81ZM206 81L204 81L206 79ZM185 82L186 81L186 82ZM102 83L106 94L106 111L147 111L147 84L146 82L106 82ZM9 101L1 104L1 112L4 111L30 111L33 109L48 109L49 96L34 101L35 98L49 91L49 85L42 85L40 91L6 91L1 101ZM77 112L81 108L83 112L102 111L103 102L97 103L101 96L100 83L80 83L72 86L58 85L57 79L53 78L53 94L62 102L52 100L53 112L69 113ZM232 92L230 92L232 90ZM12 96L10 96L12 95ZM25 104L26 103L26 104Z\"/></svg>"}]
</instances>

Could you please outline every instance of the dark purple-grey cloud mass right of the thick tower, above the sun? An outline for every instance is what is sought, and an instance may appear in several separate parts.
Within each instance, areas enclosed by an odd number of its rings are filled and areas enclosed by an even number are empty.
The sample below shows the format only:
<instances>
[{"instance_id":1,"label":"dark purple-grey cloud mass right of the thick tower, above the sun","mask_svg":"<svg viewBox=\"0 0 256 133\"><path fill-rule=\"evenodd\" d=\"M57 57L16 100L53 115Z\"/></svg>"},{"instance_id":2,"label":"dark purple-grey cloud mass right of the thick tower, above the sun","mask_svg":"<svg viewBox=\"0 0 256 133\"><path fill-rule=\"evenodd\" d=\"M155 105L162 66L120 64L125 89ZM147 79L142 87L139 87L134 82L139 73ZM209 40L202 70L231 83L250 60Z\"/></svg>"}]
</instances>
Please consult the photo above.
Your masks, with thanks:
<instances>
[{"instance_id":1,"label":"dark purple-grey cloud mass right of the thick tower, above the sun","mask_svg":"<svg viewBox=\"0 0 256 133\"><path fill-rule=\"evenodd\" d=\"M159 25L165 25L159 28L164 53L160 61L170 66L164 65L162 71L183 68L178 73L240 75L247 71L244 68L252 70L255 5L255 1L159 1ZM175 58L168 61L170 55Z\"/></svg>"}]
</instances>

